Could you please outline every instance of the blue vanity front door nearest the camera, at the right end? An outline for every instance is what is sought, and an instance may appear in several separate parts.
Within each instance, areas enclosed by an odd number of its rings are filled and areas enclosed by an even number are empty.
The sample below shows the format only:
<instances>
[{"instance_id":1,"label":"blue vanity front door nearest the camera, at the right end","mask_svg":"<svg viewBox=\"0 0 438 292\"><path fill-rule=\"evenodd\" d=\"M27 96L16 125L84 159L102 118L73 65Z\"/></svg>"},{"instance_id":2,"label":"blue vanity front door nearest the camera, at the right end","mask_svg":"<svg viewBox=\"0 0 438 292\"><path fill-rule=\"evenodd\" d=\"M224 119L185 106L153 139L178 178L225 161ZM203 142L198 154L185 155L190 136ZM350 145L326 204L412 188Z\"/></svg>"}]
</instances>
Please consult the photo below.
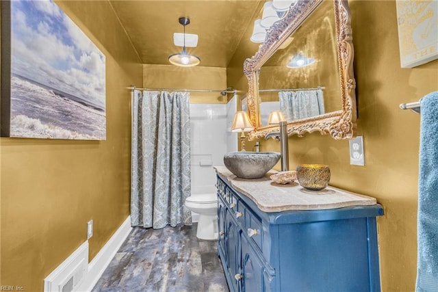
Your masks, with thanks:
<instances>
[{"instance_id":1,"label":"blue vanity front door nearest the camera, at the right end","mask_svg":"<svg viewBox=\"0 0 438 292\"><path fill-rule=\"evenodd\" d=\"M263 265L254 254L248 239L242 235L242 292L265 291Z\"/></svg>"}]
</instances>

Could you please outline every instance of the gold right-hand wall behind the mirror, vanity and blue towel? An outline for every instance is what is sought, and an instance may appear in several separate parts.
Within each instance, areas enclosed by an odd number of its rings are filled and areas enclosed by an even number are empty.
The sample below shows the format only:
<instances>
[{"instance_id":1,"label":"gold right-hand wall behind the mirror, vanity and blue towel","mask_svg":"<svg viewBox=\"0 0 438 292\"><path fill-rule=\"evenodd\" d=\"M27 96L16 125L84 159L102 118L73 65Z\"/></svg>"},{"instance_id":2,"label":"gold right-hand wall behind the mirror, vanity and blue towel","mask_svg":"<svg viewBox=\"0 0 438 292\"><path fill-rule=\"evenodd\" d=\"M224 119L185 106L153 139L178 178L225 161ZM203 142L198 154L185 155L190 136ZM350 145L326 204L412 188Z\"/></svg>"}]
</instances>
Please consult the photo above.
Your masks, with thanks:
<instances>
[{"instance_id":1,"label":"gold right-hand wall behind the mirror, vanity and blue towel","mask_svg":"<svg viewBox=\"0 0 438 292\"><path fill-rule=\"evenodd\" d=\"M359 107L357 134L363 135L366 165L349 164L348 141L319 133L289 137L289 163L291 169L298 163L328 164L332 185L377 198L385 209L385 215L378 218L382 289L413 291L420 116L398 105L438 90L438 60L400 68L396 1L349 3ZM247 90L242 74L231 74L241 64L231 64L228 84ZM279 151L280 145L262 140L261 150Z\"/></svg>"}]
</instances>

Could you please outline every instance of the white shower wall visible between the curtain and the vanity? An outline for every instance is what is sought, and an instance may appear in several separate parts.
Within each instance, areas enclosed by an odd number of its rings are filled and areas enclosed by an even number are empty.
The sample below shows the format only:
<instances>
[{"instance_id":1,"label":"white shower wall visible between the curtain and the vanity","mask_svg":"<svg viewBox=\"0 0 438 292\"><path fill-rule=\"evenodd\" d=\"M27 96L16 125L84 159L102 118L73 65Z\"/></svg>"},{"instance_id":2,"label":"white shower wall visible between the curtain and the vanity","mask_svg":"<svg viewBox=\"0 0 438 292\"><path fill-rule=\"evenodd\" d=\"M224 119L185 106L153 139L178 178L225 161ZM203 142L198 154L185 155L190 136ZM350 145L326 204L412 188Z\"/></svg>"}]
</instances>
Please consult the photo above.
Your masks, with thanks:
<instances>
[{"instance_id":1,"label":"white shower wall visible between the curtain and the vanity","mask_svg":"<svg viewBox=\"0 0 438 292\"><path fill-rule=\"evenodd\" d=\"M234 113L235 98L228 105L190 104L192 194L216 193L213 166L224 165L224 154L237 150L236 134L228 127Z\"/></svg>"}]
</instances>

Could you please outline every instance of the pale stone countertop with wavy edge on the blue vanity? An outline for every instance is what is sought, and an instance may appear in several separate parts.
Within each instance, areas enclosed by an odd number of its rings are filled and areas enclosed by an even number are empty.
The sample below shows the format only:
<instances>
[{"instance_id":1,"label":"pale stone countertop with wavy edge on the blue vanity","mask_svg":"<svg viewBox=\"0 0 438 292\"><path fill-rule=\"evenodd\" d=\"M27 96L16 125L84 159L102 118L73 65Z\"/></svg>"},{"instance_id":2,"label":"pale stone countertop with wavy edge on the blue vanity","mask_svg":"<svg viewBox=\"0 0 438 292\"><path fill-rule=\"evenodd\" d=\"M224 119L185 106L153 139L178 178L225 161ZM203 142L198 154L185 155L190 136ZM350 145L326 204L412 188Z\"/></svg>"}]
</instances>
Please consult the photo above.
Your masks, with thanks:
<instances>
[{"instance_id":1,"label":"pale stone countertop with wavy edge on the blue vanity","mask_svg":"<svg viewBox=\"0 0 438 292\"><path fill-rule=\"evenodd\" d=\"M238 178L225 166L214 166L214 169L237 191L253 200L257 207L265 212L337 209L377 204L375 198L331 186L321 191L309 191L301 187L298 181L279 185L269 178L276 171L268 172L263 178L245 179Z\"/></svg>"}]
</instances>

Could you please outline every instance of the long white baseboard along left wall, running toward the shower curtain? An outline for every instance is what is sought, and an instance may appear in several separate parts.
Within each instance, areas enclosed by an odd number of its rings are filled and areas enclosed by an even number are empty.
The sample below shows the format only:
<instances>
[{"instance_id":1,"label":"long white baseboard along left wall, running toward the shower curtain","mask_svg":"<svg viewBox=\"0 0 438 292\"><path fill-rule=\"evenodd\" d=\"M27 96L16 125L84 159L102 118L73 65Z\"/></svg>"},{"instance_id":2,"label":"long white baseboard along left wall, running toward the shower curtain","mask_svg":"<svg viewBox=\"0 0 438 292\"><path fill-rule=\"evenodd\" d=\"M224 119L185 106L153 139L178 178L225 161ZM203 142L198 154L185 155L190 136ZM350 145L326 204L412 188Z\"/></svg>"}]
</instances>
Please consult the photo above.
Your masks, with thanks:
<instances>
[{"instance_id":1,"label":"long white baseboard along left wall, running toward the shower curtain","mask_svg":"<svg viewBox=\"0 0 438 292\"><path fill-rule=\"evenodd\" d=\"M116 230L110 240L103 245L103 248L94 256L88 264L88 273L77 291L92 291L96 282L101 278L103 271L110 265L112 258L131 232L131 216Z\"/></svg>"}]
</instances>

